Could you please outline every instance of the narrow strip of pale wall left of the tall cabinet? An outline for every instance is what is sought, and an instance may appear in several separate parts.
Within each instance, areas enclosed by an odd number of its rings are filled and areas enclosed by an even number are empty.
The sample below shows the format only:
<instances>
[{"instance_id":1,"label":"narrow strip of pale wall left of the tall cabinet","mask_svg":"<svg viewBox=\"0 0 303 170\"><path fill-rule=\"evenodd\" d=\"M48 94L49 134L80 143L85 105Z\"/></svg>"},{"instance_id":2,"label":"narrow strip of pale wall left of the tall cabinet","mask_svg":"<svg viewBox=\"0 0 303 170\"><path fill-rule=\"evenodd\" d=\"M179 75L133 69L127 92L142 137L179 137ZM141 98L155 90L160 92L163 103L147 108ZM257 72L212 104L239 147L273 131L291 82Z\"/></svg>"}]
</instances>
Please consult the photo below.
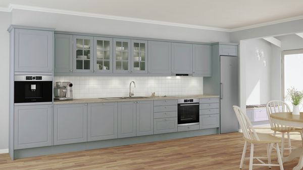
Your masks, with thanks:
<instances>
[{"instance_id":1,"label":"narrow strip of pale wall left of the tall cabinet","mask_svg":"<svg viewBox=\"0 0 303 170\"><path fill-rule=\"evenodd\" d=\"M9 42L10 36L7 29L11 24L11 14L0 12L0 149L9 148Z\"/></svg>"}]
</instances>

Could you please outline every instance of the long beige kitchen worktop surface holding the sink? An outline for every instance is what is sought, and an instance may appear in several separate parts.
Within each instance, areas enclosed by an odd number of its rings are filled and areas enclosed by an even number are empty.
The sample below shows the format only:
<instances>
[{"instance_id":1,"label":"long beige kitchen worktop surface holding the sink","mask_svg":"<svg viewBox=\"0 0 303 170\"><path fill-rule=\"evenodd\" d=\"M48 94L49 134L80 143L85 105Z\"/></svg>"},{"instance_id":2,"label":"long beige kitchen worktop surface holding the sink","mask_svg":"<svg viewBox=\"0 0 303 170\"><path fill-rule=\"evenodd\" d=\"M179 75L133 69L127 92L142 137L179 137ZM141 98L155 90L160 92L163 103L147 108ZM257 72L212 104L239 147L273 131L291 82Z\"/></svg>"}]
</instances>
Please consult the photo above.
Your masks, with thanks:
<instances>
[{"instance_id":1,"label":"long beige kitchen worktop surface holding the sink","mask_svg":"<svg viewBox=\"0 0 303 170\"><path fill-rule=\"evenodd\" d=\"M216 95L188 95L188 96L157 96L140 99L99 99L99 98L88 98L88 99L73 99L68 101L54 101L54 105L60 104L77 104L77 103L105 103L105 102L128 102L128 101L150 101L150 100L172 100L172 99L199 99L199 98L219 98Z\"/></svg>"}]
</instances>

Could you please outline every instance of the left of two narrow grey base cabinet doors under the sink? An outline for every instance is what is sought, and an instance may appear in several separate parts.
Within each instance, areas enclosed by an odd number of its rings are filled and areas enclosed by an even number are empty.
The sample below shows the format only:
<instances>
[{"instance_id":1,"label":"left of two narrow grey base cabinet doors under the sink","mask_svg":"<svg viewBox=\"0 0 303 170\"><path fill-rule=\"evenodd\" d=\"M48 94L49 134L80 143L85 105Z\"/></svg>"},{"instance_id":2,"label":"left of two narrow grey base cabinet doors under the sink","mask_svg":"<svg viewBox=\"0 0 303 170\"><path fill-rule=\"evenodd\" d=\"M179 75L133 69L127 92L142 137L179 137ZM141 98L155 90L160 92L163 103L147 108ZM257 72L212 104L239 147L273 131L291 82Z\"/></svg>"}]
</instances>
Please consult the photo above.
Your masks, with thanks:
<instances>
[{"instance_id":1,"label":"left of two narrow grey base cabinet doors under the sink","mask_svg":"<svg viewBox=\"0 0 303 170\"><path fill-rule=\"evenodd\" d=\"M136 136L136 102L118 103L118 138Z\"/></svg>"}]
</instances>

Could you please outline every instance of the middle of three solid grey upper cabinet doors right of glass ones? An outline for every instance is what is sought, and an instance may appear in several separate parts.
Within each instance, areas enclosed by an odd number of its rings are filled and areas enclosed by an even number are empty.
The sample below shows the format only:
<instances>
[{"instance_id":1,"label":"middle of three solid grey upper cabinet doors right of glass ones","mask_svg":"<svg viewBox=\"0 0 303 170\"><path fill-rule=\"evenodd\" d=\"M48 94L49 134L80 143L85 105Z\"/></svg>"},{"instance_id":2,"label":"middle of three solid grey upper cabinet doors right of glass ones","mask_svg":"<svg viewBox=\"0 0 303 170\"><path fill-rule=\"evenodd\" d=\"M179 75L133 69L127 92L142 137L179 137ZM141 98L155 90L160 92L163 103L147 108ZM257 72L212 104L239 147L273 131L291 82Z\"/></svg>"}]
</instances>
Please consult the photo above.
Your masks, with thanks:
<instances>
[{"instance_id":1,"label":"middle of three solid grey upper cabinet doors right of glass ones","mask_svg":"<svg viewBox=\"0 0 303 170\"><path fill-rule=\"evenodd\" d=\"M172 43L172 73L192 74L192 44Z\"/></svg>"}]
</instances>

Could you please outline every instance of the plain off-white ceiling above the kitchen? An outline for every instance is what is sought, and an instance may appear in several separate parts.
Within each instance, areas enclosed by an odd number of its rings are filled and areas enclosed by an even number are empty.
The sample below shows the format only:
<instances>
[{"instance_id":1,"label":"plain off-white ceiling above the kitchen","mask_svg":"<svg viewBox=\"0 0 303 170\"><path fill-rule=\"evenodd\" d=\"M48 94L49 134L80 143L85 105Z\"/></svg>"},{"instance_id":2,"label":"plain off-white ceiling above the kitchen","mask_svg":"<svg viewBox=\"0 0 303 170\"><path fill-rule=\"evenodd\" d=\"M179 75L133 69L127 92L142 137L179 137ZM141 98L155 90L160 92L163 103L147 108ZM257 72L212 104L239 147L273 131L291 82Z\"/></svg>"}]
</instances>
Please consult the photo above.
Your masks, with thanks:
<instances>
[{"instance_id":1,"label":"plain off-white ceiling above the kitchen","mask_svg":"<svg viewBox=\"0 0 303 170\"><path fill-rule=\"evenodd\" d=\"M303 18L301 0L1 0L0 9L10 4L222 29Z\"/></svg>"}]
</instances>

